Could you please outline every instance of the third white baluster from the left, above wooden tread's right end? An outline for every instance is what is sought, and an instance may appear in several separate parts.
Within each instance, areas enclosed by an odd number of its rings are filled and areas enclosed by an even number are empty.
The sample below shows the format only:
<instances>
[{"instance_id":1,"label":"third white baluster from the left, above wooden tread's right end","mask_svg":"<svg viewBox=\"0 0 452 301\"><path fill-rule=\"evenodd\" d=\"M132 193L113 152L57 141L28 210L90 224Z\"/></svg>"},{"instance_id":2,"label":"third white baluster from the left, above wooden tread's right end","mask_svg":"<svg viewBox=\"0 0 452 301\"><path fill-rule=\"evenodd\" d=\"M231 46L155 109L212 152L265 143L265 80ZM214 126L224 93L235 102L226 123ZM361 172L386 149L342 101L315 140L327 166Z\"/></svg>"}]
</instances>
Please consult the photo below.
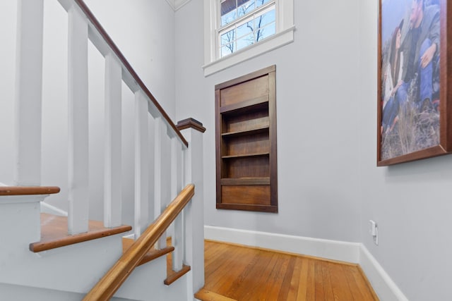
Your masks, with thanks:
<instances>
[{"instance_id":1,"label":"third white baluster from the left, above wooden tread's right end","mask_svg":"<svg viewBox=\"0 0 452 301\"><path fill-rule=\"evenodd\" d=\"M105 56L104 225L121 226L121 84L122 69L112 54Z\"/></svg>"}]
</instances>

